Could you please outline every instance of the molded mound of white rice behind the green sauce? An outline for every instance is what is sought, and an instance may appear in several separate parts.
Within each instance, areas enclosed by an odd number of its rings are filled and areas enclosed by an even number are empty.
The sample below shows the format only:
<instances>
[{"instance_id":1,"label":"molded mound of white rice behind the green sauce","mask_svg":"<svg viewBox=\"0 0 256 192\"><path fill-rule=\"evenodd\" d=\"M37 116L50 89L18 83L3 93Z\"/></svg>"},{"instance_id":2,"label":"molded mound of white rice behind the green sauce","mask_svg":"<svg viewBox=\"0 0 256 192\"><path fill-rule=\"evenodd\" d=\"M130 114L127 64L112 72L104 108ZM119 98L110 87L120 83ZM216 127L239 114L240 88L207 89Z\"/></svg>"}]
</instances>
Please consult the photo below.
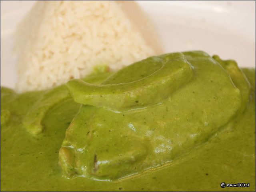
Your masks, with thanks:
<instances>
[{"instance_id":1,"label":"molded mound of white rice behind the green sauce","mask_svg":"<svg viewBox=\"0 0 256 192\"><path fill-rule=\"evenodd\" d=\"M18 25L14 45L18 92L162 54L154 27L133 1L38 1Z\"/></svg>"}]
</instances>

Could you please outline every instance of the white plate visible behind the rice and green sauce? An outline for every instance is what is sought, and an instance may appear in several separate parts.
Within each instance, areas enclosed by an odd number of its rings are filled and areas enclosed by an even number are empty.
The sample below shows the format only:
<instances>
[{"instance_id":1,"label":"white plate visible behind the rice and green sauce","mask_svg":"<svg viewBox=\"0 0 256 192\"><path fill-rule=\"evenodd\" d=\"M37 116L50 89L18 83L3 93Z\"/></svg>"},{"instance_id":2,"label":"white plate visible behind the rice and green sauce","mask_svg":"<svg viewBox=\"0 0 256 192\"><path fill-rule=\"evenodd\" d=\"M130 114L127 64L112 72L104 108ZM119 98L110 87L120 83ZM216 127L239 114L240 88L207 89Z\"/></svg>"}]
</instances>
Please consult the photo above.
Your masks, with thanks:
<instances>
[{"instance_id":1,"label":"white plate visible behind the rice and green sauce","mask_svg":"<svg viewBox=\"0 0 256 192\"><path fill-rule=\"evenodd\" d=\"M12 32L35 1L1 1L1 86L17 81ZM255 68L255 1L138 1L166 52L204 50Z\"/></svg>"}]
</instances>

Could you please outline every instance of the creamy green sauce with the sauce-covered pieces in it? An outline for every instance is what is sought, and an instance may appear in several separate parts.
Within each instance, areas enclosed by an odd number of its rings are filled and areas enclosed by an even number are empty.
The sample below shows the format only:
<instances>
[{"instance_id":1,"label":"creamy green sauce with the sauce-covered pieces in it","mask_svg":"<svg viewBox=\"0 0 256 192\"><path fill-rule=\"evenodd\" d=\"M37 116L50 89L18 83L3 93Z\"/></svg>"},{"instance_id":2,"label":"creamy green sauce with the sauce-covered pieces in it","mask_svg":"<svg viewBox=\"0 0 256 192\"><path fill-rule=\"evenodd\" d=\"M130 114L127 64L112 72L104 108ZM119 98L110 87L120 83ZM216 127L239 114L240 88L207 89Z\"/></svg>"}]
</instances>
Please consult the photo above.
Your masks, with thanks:
<instances>
[{"instance_id":1,"label":"creamy green sauce with the sauce-covered pieces in it","mask_svg":"<svg viewBox=\"0 0 256 192\"><path fill-rule=\"evenodd\" d=\"M1 191L255 191L255 69L184 52L109 75L1 88Z\"/></svg>"}]
</instances>

